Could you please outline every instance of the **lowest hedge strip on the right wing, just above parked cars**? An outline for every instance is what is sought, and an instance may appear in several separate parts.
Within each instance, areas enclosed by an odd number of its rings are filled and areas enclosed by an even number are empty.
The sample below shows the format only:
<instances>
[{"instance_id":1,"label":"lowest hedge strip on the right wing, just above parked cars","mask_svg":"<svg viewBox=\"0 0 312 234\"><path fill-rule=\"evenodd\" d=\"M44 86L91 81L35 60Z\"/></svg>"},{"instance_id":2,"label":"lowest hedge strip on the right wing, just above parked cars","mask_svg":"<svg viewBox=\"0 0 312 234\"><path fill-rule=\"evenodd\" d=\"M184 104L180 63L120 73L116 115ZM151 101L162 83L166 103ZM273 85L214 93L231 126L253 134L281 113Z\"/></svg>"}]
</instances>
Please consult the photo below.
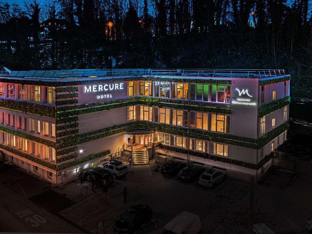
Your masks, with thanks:
<instances>
[{"instance_id":1,"label":"lowest hedge strip on the right wing, just above parked cars","mask_svg":"<svg viewBox=\"0 0 312 234\"><path fill-rule=\"evenodd\" d=\"M233 165L251 168L251 169L255 169L255 170L260 169L267 161L269 161L273 157L273 152L272 152L271 154L266 155L265 158L261 160L261 162L259 162L258 164L254 164L254 163L246 163L246 162L231 159L231 158L220 157L217 155L212 155L212 154L208 154L208 153L204 153L204 152L196 152L193 150L181 149L178 147L168 146L168 145L163 145L163 144L160 144L158 147L161 149L171 150L171 151L182 153L182 154L189 154L189 155L193 155L193 156L199 157L199 158L212 159L214 161L223 162L223 163L230 163Z\"/></svg>"}]
</instances>

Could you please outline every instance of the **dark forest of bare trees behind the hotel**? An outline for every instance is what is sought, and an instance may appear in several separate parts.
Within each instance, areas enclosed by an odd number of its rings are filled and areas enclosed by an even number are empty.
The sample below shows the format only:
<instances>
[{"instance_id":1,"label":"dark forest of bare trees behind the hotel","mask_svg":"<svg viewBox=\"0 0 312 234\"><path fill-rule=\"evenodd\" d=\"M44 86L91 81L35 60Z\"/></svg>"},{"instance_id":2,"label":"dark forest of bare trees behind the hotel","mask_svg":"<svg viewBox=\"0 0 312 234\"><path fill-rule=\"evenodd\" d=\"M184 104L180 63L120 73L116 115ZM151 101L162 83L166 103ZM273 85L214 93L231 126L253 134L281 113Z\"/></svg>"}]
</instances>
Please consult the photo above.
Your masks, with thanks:
<instances>
[{"instance_id":1,"label":"dark forest of bare trees behind the hotel","mask_svg":"<svg viewBox=\"0 0 312 234\"><path fill-rule=\"evenodd\" d=\"M311 19L308 0L0 2L0 64L285 69L292 96L311 99Z\"/></svg>"}]
</instances>

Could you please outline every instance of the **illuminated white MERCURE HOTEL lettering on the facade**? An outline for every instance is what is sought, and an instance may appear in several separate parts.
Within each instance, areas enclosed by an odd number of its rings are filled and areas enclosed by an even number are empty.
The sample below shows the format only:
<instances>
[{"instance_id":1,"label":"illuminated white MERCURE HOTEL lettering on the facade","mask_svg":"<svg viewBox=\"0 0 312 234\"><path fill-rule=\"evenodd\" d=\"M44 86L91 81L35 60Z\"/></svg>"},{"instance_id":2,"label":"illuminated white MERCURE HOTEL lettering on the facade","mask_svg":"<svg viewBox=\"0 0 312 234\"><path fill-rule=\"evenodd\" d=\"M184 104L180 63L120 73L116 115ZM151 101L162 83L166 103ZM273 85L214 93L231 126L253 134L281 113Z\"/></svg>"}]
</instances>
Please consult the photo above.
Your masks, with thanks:
<instances>
[{"instance_id":1,"label":"illuminated white MERCURE HOTEL lettering on the facade","mask_svg":"<svg viewBox=\"0 0 312 234\"><path fill-rule=\"evenodd\" d=\"M96 93L103 92L101 94L96 95L96 99L105 99L105 98L113 98L112 92L116 90L123 90L124 83L113 83L113 84L105 84L105 85L85 85L83 87L84 93Z\"/></svg>"}]
</instances>

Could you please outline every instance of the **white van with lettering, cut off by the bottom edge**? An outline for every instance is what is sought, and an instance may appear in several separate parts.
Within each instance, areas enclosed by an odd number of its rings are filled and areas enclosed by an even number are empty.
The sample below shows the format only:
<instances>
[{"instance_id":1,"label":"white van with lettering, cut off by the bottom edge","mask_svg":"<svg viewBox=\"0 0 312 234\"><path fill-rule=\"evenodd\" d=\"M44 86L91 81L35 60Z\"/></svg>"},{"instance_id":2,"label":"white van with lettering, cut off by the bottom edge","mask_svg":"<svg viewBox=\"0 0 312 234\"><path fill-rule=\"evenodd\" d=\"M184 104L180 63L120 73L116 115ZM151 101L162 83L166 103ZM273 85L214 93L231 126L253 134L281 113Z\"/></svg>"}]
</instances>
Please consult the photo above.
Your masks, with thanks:
<instances>
[{"instance_id":1,"label":"white van with lettering, cut off by the bottom edge","mask_svg":"<svg viewBox=\"0 0 312 234\"><path fill-rule=\"evenodd\" d=\"M166 224L160 234L198 234L202 224L198 215L183 211Z\"/></svg>"}]
</instances>

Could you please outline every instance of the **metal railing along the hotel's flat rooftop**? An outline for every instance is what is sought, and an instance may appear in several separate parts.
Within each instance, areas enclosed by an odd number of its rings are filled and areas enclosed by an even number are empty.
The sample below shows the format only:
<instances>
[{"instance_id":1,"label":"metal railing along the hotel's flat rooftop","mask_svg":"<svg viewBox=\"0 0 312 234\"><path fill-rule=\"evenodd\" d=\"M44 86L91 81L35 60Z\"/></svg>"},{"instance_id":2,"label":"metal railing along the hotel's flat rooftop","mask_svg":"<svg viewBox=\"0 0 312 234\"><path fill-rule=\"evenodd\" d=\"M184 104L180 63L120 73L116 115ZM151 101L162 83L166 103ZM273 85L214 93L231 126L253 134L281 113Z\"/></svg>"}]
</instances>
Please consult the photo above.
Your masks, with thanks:
<instances>
[{"instance_id":1,"label":"metal railing along the hotel's flat rooftop","mask_svg":"<svg viewBox=\"0 0 312 234\"><path fill-rule=\"evenodd\" d=\"M286 75L285 70L240 69L115 69L106 70L59 70L59 71L12 71L9 76L41 79L97 78L119 76L193 76L222 78L265 78Z\"/></svg>"}]
</instances>

